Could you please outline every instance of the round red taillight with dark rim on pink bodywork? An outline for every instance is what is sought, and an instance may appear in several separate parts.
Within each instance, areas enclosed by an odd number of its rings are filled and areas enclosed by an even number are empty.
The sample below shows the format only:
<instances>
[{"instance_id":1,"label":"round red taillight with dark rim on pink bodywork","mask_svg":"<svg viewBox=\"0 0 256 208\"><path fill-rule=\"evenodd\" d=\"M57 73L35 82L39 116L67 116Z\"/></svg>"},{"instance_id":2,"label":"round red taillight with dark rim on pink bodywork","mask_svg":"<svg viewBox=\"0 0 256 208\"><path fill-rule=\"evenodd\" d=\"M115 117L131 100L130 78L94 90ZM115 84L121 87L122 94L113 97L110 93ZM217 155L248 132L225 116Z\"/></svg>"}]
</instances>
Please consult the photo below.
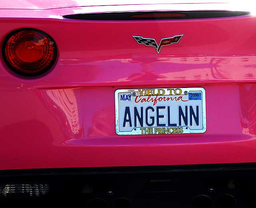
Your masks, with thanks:
<instances>
[{"instance_id":1,"label":"round red taillight with dark rim on pink bodywork","mask_svg":"<svg viewBox=\"0 0 256 208\"><path fill-rule=\"evenodd\" d=\"M8 67L24 76L37 76L48 71L56 60L56 45L45 32L21 29L10 33L3 44L3 57Z\"/></svg>"}]
</instances>

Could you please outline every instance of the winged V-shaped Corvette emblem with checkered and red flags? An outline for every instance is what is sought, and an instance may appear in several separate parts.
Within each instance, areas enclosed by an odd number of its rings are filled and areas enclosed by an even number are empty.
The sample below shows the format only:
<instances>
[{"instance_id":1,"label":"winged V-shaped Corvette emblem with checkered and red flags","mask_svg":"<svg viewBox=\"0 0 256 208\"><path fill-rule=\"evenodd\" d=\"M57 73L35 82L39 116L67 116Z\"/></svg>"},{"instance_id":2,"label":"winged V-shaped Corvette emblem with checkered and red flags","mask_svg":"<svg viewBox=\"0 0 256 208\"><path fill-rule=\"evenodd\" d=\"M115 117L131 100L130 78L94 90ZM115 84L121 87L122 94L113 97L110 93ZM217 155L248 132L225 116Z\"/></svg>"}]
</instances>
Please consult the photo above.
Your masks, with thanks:
<instances>
[{"instance_id":1,"label":"winged V-shaped Corvette emblem with checkered and red flags","mask_svg":"<svg viewBox=\"0 0 256 208\"><path fill-rule=\"evenodd\" d=\"M162 46L170 46L173 43L178 43L183 35L175 35L170 38L162 38L159 45L156 43L154 38L143 38L142 36L132 36L138 44L144 44L146 46L154 46L156 52L159 54Z\"/></svg>"}]
</instances>

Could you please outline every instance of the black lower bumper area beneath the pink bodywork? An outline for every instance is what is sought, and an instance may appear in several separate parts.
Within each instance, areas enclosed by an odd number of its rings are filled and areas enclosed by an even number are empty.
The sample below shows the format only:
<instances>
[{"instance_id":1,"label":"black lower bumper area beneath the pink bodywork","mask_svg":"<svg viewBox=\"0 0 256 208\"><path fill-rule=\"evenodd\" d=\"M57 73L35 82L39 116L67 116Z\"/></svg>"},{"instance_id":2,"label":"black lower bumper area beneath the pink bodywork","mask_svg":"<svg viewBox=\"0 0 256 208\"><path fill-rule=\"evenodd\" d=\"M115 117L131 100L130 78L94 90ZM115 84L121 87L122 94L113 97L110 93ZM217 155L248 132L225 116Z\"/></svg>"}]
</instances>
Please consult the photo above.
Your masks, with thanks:
<instances>
[{"instance_id":1,"label":"black lower bumper area beneath the pink bodywork","mask_svg":"<svg viewBox=\"0 0 256 208\"><path fill-rule=\"evenodd\" d=\"M256 164L0 171L0 200L89 208L256 207Z\"/></svg>"}]
</instances>

